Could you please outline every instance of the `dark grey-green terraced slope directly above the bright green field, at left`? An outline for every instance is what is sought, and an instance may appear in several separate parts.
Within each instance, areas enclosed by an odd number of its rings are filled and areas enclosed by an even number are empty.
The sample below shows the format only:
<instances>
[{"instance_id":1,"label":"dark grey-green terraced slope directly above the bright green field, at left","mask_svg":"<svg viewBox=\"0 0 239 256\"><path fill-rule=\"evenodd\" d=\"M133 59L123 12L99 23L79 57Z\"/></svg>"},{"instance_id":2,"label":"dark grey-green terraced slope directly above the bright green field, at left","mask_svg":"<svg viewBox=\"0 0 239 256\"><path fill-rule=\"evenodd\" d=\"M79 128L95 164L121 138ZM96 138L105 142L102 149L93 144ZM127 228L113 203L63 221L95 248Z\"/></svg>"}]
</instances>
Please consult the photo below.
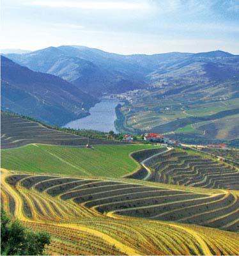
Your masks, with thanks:
<instances>
[{"instance_id":1,"label":"dark grey-green terraced slope directly above the bright green field, at left","mask_svg":"<svg viewBox=\"0 0 239 256\"><path fill-rule=\"evenodd\" d=\"M30 143L84 146L88 139L49 129L37 122L1 112L1 148L22 147ZM89 139L91 145L121 145L125 142Z\"/></svg>"}]
</instances>

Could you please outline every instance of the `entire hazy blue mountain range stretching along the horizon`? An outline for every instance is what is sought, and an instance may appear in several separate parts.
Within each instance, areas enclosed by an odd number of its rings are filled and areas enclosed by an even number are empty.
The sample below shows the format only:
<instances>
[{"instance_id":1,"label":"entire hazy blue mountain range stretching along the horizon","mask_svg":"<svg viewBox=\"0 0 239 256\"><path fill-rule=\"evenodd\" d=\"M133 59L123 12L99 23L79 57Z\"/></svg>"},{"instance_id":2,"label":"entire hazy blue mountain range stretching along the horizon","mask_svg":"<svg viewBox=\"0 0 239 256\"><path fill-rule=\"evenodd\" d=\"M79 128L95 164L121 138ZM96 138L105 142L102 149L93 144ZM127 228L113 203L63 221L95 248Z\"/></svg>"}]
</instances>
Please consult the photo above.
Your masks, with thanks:
<instances>
[{"instance_id":1,"label":"entire hazy blue mountain range stretching along the horizon","mask_svg":"<svg viewBox=\"0 0 239 256\"><path fill-rule=\"evenodd\" d=\"M176 76L226 79L238 75L239 56L228 52L120 55L82 46L49 47L8 58L36 72L59 76L95 95L157 86ZM185 77L186 75L186 77ZM181 78L178 77L178 78Z\"/></svg>"}]
</instances>

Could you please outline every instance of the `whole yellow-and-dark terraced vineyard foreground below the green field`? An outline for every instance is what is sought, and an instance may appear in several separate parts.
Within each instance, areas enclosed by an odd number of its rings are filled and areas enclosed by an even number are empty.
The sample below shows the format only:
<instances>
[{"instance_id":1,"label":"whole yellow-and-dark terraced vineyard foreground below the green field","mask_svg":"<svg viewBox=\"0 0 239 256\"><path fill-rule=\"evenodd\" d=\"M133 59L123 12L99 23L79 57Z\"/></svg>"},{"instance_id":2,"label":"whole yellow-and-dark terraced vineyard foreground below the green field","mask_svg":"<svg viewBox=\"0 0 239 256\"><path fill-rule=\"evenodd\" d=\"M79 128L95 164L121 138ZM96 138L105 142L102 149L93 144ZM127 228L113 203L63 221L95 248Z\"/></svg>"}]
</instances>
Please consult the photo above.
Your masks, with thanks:
<instances>
[{"instance_id":1,"label":"whole yellow-and-dark terraced vineyard foreground below the green field","mask_svg":"<svg viewBox=\"0 0 239 256\"><path fill-rule=\"evenodd\" d=\"M141 180L40 176L7 170L2 170L1 184L6 211L27 227L52 234L47 248L50 255L238 254L238 234L224 231L238 231L235 193ZM175 220L173 216L180 209L183 215ZM141 219L134 217L135 211ZM144 211L150 211L150 221ZM162 218L152 218L155 213ZM166 216L224 230L157 221Z\"/></svg>"}]
</instances>

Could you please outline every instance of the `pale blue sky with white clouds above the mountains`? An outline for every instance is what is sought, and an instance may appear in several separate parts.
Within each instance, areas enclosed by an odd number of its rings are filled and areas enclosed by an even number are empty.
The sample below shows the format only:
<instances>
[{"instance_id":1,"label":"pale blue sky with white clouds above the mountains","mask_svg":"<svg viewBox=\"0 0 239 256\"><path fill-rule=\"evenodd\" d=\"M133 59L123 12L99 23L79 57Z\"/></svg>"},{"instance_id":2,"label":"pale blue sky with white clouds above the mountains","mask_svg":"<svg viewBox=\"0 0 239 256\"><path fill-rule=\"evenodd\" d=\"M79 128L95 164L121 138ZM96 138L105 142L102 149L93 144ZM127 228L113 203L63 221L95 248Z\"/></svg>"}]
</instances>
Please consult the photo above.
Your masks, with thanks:
<instances>
[{"instance_id":1,"label":"pale blue sky with white clouds above the mountains","mask_svg":"<svg viewBox=\"0 0 239 256\"><path fill-rule=\"evenodd\" d=\"M239 54L239 0L1 0L1 49Z\"/></svg>"}]
</instances>

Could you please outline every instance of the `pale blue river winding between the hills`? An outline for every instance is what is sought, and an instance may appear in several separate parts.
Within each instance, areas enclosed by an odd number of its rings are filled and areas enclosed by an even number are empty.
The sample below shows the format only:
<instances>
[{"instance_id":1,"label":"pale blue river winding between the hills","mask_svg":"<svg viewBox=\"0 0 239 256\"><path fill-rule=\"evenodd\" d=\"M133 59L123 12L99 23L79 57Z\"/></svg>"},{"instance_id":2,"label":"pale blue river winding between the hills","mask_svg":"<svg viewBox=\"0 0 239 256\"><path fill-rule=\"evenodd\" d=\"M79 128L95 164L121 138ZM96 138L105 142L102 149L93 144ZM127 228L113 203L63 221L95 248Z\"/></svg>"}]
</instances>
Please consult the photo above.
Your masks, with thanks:
<instances>
[{"instance_id":1,"label":"pale blue river winding between the hills","mask_svg":"<svg viewBox=\"0 0 239 256\"><path fill-rule=\"evenodd\" d=\"M89 109L91 115L69 122L64 127L117 132L114 127L114 121L116 120L115 108L118 104L122 104L122 102L112 99L102 99L101 102Z\"/></svg>"}]
</instances>

